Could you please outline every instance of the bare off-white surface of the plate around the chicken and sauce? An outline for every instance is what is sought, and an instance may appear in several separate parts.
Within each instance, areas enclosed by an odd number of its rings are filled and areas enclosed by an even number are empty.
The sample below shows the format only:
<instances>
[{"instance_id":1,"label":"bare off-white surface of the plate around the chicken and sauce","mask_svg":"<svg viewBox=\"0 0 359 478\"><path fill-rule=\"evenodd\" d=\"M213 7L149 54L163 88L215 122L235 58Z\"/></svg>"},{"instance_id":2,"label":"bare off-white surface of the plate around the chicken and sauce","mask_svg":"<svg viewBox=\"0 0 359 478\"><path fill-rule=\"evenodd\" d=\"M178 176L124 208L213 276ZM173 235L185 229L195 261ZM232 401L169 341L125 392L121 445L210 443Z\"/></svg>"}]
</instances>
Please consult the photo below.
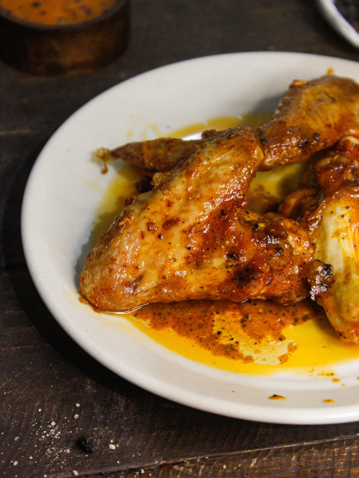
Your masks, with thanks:
<instances>
[{"instance_id":1,"label":"bare off-white surface of the plate around the chicken and sauce","mask_svg":"<svg viewBox=\"0 0 359 478\"><path fill-rule=\"evenodd\" d=\"M34 283L59 324L92 357L127 380L170 400L248 420L326 424L359 419L359 363L331 380L224 372L161 347L124 318L105 323L79 303L79 265L89 252L95 211L114 171L99 173L91 154L144 136L238 113L271 111L294 78L334 68L359 81L359 64L292 53L210 56L165 66L117 85L72 115L47 142L29 177L22 241ZM273 393L287 400L270 401ZM330 395L336 403L323 404Z\"/></svg>"}]
</instances>

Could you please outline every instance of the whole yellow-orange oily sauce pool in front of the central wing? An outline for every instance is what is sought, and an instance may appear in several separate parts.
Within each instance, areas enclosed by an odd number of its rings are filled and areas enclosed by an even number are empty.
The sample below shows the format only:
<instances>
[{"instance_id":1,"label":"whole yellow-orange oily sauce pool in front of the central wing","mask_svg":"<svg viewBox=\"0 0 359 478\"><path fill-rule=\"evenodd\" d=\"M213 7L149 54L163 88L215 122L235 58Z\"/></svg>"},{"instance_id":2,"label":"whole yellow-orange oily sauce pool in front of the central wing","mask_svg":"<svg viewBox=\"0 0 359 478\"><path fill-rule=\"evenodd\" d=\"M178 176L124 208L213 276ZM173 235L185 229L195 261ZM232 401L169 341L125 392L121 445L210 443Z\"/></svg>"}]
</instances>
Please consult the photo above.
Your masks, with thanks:
<instances>
[{"instance_id":1,"label":"whole yellow-orange oily sauce pool in front of the central wing","mask_svg":"<svg viewBox=\"0 0 359 478\"><path fill-rule=\"evenodd\" d=\"M310 301L148 304L126 318L164 347L229 372L333 380L335 364L359 359L359 347L339 339L323 310Z\"/></svg>"}]
</instances>

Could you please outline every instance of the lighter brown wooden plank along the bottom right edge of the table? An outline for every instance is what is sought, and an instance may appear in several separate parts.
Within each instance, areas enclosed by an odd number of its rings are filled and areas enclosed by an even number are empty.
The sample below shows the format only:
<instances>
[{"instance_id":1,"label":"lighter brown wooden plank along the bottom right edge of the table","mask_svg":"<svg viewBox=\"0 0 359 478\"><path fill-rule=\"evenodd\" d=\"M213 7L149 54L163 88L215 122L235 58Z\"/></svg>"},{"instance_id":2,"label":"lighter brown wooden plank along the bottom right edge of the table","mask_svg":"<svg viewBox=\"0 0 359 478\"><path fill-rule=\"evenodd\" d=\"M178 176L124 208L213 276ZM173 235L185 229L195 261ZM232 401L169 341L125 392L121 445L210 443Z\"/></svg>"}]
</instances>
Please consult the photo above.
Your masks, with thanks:
<instances>
[{"instance_id":1,"label":"lighter brown wooden plank along the bottom right edge of the table","mask_svg":"<svg viewBox=\"0 0 359 478\"><path fill-rule=\"evenodd\" d=\"M155 468L113 473L111 478L332 478L358 476L358 440L294 445L204 457Z\"/></svg>"}]
</instances>

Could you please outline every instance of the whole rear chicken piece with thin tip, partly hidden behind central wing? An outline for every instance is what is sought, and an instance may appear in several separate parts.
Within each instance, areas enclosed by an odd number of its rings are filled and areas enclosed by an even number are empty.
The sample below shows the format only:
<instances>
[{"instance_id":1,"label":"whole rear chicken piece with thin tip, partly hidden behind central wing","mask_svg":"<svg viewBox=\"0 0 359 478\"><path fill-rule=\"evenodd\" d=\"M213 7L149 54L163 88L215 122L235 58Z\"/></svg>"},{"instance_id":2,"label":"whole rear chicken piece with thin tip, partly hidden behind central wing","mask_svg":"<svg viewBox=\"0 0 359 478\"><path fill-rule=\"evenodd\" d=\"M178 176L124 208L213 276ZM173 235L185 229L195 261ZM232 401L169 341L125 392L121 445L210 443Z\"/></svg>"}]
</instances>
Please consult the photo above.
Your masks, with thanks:
<instances>
[{"instance_id":1,"label":"whole rear chicken piece with thin tip, partly hidden behind central wing","mask_svg":"<svg viewBox=\"0 0 359 478\"><path fill-rule=\"evenodd\" d=\"M314 152L347 135L359 137L359 86L353 80L322 76L296 80L284 94L271 120L257 128L264 151L260 170L306 161ZM107 157L123 159L148 172L169 171L223 131L203 131L202 139L139 141L112 150Z\"/></svg>"}]
</instances>

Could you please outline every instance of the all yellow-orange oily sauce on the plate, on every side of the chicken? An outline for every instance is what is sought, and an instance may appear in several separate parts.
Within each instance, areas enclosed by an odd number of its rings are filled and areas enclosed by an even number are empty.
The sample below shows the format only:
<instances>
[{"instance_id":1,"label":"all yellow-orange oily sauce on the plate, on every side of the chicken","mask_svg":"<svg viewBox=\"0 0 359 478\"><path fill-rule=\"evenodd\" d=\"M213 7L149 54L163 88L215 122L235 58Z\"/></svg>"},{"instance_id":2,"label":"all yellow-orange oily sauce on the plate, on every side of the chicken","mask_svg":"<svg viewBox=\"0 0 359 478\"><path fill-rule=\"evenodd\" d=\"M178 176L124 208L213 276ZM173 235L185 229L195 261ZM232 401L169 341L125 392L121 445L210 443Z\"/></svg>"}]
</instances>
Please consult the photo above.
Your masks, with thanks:
<instances>
[{"instance_id":1,"label":"all yellow-orange oily sauce on the plate, on every side of the chicken","mask_svg":"<svg viewBox=\"0 0 359 478\"><path fill-rule=\"evenodd\" d=\"M268 114L217 118L171 136L183 137L212 128L255 127L268 118ZM304 167L292 164L258 173L248 194L254 205L259 204L258 212L295 190ZM136 179L134 169L125 164L112 180L95 218L94 243L121 212L124 199L135 194ZM123 316L164 347L236 373L272 375L288 371L333 380L335 364L359 359L359 347L339 339L323 309L310 300L288 306L256 300L243 304L224 300L147 304Z\"/></svg>"}]
</instances>

